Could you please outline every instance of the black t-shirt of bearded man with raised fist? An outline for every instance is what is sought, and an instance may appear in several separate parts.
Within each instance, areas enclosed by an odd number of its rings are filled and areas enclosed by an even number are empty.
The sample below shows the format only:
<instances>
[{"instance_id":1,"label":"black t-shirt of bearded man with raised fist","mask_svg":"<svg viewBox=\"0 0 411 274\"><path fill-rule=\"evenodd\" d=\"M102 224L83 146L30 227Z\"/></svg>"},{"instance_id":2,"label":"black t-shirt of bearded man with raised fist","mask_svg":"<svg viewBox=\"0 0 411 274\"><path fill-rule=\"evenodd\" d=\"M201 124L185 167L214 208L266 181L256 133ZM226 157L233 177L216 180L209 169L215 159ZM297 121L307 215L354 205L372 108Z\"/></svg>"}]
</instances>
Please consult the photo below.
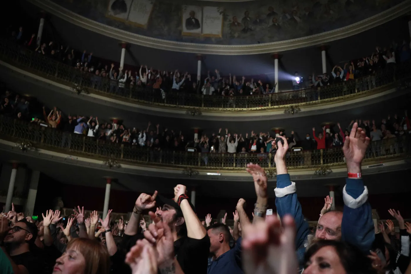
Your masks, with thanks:
<instances>
[{"instance_id":1,"label":"black t-shirt of bearded man with raised fist","mask_svg":"<svg viewBox=\"0 0 411 274\"><path fill-rule=\"evenodd\" d=\"M182 237L174 242L175 258L185 274L206 274L208 255L210 254L210 238L203 239Z\"/></svg>"}]
</instances>

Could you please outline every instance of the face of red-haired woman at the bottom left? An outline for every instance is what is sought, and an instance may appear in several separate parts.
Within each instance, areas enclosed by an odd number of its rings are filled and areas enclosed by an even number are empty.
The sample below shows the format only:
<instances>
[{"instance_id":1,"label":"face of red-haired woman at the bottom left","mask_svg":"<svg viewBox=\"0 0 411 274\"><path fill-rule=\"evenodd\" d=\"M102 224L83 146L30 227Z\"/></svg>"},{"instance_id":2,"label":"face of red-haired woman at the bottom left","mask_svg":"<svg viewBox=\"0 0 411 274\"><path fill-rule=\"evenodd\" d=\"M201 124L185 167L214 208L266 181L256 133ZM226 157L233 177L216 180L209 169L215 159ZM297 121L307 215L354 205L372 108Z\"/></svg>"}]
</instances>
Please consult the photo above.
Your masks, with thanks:
<instances>
[{"instance_id":1,"label":"face of red-haired woman at the bottom left","mask_svg":"<svg viewBox=\"0 0 411 274\"><path fill-rule=\"evenodd\" d=\"M83 254L74 249L67 249L60 258L55 261L53 274L77 274L84 273L85 259Z\"/></svg>"}]
</instances>

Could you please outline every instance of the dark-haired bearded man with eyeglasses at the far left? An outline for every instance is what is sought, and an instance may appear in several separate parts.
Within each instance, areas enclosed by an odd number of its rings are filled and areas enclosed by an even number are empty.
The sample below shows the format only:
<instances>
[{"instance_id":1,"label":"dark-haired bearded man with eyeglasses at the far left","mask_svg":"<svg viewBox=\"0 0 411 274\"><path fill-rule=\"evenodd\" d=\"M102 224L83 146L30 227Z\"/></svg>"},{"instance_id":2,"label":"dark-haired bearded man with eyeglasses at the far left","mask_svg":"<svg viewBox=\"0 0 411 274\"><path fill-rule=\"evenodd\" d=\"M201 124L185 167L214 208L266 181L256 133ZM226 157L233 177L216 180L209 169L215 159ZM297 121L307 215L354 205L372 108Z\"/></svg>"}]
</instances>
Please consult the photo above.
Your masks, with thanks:
<instances>
[{"instance_id":1,"label":"dark-haired bearded man with eyeglasses at the far left","mask_svg":"<svg viewBox=\"0 0 411 274\"><path fill-rule=\"evenodd\" d=\"M43 273L44 263L30 248L35 248L37 227L25 219L16 222L7 232L4 243L15 274Z\"/></svg>"}]
</instances>

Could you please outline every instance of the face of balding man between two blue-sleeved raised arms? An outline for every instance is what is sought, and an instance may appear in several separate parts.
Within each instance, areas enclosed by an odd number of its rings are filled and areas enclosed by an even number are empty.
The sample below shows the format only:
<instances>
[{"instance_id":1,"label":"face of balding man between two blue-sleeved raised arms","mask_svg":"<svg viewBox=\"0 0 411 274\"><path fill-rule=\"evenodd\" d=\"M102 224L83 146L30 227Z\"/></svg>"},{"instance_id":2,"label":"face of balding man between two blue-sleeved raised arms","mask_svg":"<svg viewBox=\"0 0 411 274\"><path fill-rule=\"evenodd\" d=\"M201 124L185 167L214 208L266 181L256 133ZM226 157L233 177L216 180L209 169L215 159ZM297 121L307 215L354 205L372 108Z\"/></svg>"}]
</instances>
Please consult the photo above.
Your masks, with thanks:
<instances>
[{"instance_id":1,"label":"face of balding man between two blue-sleeved raised arms","mask_svg":"<svg viewBox=\"0 0 411 274\"><path fill-rule=\"evenodd\" d=\"M331 211L324 214L318 221L315 239L341 239L342 212Z\"/></svg>"}]
</instances>

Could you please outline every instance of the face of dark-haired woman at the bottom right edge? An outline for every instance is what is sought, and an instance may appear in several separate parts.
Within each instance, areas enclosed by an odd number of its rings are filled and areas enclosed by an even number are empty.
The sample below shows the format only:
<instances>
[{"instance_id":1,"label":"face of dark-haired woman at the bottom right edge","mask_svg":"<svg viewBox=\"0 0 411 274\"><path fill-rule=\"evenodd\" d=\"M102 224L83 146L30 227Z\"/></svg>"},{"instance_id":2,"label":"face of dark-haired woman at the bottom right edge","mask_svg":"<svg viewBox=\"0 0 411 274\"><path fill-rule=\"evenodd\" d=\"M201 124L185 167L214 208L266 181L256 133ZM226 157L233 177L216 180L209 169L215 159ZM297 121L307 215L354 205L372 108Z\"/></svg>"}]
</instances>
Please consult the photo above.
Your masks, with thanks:
<instances>
[{"instance_id":1,"label":"face of dark-haired woman at the bottom right edge","mask_svg":"<svg viewBox=\"0 0 411 274\"><path fill-rule=\"evenodd\" d=\"M332 246L324 246L314 253L304 269L304 274L345 274L346 271Z\"/></svg>"}]
</instances>

